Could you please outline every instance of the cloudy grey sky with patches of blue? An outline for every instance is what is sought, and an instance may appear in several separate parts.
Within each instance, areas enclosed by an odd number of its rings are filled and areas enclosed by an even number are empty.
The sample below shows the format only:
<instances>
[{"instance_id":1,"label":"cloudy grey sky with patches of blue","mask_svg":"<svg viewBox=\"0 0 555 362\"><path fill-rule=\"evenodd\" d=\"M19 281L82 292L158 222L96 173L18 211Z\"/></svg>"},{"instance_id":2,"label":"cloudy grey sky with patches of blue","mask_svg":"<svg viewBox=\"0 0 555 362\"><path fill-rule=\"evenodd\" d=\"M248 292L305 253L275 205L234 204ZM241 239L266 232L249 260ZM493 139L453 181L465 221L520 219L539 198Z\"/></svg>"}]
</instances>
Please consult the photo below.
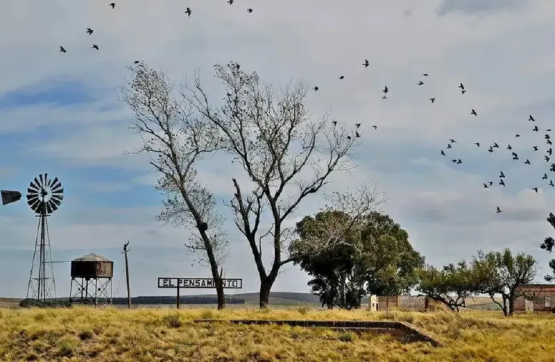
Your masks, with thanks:
<instances>
[{"instance_id":1,"label":"cloudy grey sky with patches of blue","mask_svg":"<svg viewBox=\"0 0 555 362\"><path fill-rule=\"evenodd\" d=\"M141 139L129 129L130 110L117 94L130 76L127 67L143 60L176 85L200 69L217 100L212 66L233 60L276 87L290 80L318 86L306 99L314 117L330 112L346 124L362 123L357 168L334 175L289 222L317 212L327 193L377 184L389 199L384 211L429 264L509 247L533 255L540 275L548 273L551 256L539 245L555 234L545 220L555 189L541 179L544 172L555 179L543 161L544 130L555 128L553 1L116 3L112 10L98 1L21 0L0 12L0 189L25 192L44 172L60 178L65 199L49 218L54 261L89 252L112 259L114 296L125 295L121 248L127 240L132 295L166 295L157 277L210 276L183 246L188 231L156 221L162 209L156 174L145 157L126 154ZM457 142L443 157L449 139ZM500 147L488 153L493 142ZM507 144L520 160L512 160ZM499 171L504 188L497 185ZM225 157L199 165L200 180L219 200L232 197L233 176L244 178ZM494 186L484 189L488 181ZM229 209L222 202L219 209L228 218L231 245L225 276L244 279L244 288L230 294L257 291L246 241ZM0 208L0 228L1 295L23 298L37 218L22 200ZM69 263L54 264L54 271L58 296L69 295ZM273 291L308 292L307 281L288 266Z\"/></svg>"}]
</instances>

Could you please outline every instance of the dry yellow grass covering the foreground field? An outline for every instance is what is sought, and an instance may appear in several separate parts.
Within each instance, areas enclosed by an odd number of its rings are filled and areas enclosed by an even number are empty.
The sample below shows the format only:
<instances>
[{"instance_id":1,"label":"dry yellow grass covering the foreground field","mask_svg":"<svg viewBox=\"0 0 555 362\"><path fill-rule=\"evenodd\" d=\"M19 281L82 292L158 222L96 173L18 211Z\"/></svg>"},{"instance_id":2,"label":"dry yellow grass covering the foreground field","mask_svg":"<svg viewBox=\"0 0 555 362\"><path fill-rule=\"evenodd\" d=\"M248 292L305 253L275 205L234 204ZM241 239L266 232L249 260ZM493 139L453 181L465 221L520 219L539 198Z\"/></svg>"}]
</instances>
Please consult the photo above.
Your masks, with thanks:
<instances>
[{"instance_id":1,"label":"dry yellow grass covering the foreground field","mask_svg":"<svg viewBox=\"0 0 555 362\"><path fill-rule=\"evenodd\" d=\"M403 320L445 347L329 329L196 325L196 318ZM555 361L555 317L499 312L0 309L0 361Z\"/></svg>"}]
</instances>

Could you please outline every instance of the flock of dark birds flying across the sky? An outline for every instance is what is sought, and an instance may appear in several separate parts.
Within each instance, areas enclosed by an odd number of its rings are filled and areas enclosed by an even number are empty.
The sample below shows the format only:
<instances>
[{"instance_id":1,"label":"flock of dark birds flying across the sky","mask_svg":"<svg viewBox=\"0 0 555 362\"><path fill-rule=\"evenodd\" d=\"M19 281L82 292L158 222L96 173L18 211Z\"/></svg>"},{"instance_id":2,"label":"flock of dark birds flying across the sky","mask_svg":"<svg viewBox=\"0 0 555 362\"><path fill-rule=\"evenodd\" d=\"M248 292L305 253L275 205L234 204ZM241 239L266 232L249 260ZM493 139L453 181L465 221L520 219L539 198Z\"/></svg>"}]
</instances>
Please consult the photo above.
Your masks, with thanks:
<instances>
[{"instance_id":1,"label":"flock of dark birds flying across the sky","mask_svg":"<svg viewBox=\"0 0 555 362\"><path fill-rule=\"evenodd\" d=\"M227 3L230 4L230 5L232 5L232 4L234 3L234 0L228 0ZM110 6L112 9L114 9L114 8L116 7L116 3L109 3L108 6ZM247 11L248 13L251 13L251 12L253 12L253 9L252 9L252 8L248 8L246 11ZM186 7L186 8L185 8L185 14L187 14L187 17L190 17L191 14L192 14L191 8ZM92 28L86 28L85 31L86 31L86 33L87 33L88 35L92 35L92 34L94 33L94 30L93 30ZM98 46L97 44L92 44L92 49L95 49L96 51L99 51L99 46ZM60 52L66 53L67 50L65 49L64 46L60 46ZM133 62L133 64L139 64L139 63L140 63L139 60L135 60L135 62ZM365 59L364 62L362 63L362 66L363 66L364 68L368 68L368 67L370 66L370 61L369 61L368 59ZM239 64L237 64L237 67L239 67ZM424 73L424 74L422 74L422 76L423 76L423 77L427 77L427 76L429 76L429 74ZM342 76L339 76L339 80L343 80L343 79L345 79L345 76L343 76L343 75L342 75ZM419 85L419 86L424 85L424 81L423 81L423 80L419 80L418 83L416 83L416 84ZM314 90L314 92L318 92L318 89L320 89L320 87L314 86L312 89ZM465 85L464 85L463 83L459 83L459 89L460 89L460 91L461 91L461 94L465 94L465 93L468 91L468 89L466 89L466 87L465 87ZM389 88L387 87L387 85L384 86L384 89L382 89L382 92L383 92L383 94L384 94L384 95L382 96L382 99L387 99L387 94L388 94L388 92L389 92ZM428 98L428 99L429 99L429 101L430 101L431 103L434 103L434 102L436 101L436 98L435 98L435 97ZM477 115L478 115L477 112L476 112L476 110L475 110L474 108L472 108L472 109L470 110L470 114L472 114L472 115L475 116L475 117L477 117ZM534 119L533 116L530 114L528 121L535 122L536 119ZM337 121L332 121L332 123L333 123L334 126L336 126ZM360 126L361 126L361 123L355 123L355 137L357 137L357 138L358 138L358 137L361 137L361 135L359 134L359 128L360 128ZM377 130L377 126L375 126L375 125L372 126L372 128L374 128L375 130ZM533 126L532 131L533 131L533 132L539 132L540 129L538 128L538 126ZM550 137L550 135L549 135L549 133L548 133L548 132L551 132L551 129L550 129L550 128L547 128L547 129L545 130L545 132L546 132L546 133L545 133L544 139L545 139L546 143L547 143L549 146L551 146L551 145L552 145L552 140L551 140L551 137ZM515 135L515 137L520 137L520 135L517 134L517 135ZM348 136L347 138L348 138L348 139L352 139L351 136ZM449 143L448 143L447 146L445 147L445 150L451 150L451 149L453 148L454 144L456 144L456 140L450 139L450 140L449 140ZM480 147L481 144L480 144L479 142L475 142L475 146ZM493 144L489 146L488 152L489 152L489 153L493 153L497 148L499 148L499 144L497 144L497 142L493 142ZM537 152L537 151L538 151L538 146L531 146L531 148L532 148L533 152ZM447 154L445 153L445 150L442 149L441 152L440 152L440 155L441 155L441 156L444 156L444 157L447 157ZM513 160L515 160L515 161L520 160L520 158L518 157L518 154L515 153L515 152L513 151L513 147L511 146L511 144L508 144L508 145L506 146L506 150L509 150L509 151L511 152L511 156L512 156L512 159L513 159ZM544 160L545 160L545 162L547 162L547 163L550 162L551 157L552 157L552 153L553 153L553 149L552 149L551 147L549 147L549 148L547 149L547 151L546 151L546 155L544 155ZM451 160L451 162L452 162L453 164L462 164L462 163L463 163L462 160L461 160L460 158L453 158L453 159ZM524 161L524 164L531 165L531 161L530 161L529 159L526 159L526 160ZM549 172L555 172L555 163L551 163L551 164L550 164L550 166L549 166ZM505 179L505 174L504 174L503 171L500 171L500 172L499 172L499 185L502 186L502 187L505 187L504 179ZM549 180L549 186L550 186L550 187L555 187L555 184L554 184L553 180L551 180L551 179L547 176L547 172L543 174L542 180ZM493 181L484 182L484 189L489 189L490 187L493 187ZM538 187L531 187L531 189L532 189L533 191L536 191L536 193L538 192ZM496 209L495 209L495 212L497 212L497 214L501 213L501 212L502 212L501 207L497 206Z\"/></svg>"}]
</instances>

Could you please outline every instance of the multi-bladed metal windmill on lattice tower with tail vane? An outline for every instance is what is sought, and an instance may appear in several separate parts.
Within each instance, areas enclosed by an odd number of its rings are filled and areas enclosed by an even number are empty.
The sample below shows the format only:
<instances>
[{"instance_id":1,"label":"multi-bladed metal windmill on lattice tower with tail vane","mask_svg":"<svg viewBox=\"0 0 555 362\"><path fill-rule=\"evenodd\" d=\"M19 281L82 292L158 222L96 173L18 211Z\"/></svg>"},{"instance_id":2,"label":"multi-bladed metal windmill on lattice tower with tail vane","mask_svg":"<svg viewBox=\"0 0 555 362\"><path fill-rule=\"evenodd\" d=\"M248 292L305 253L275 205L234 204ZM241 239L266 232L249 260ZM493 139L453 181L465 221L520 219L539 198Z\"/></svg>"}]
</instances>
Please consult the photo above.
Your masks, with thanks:
<instances>
[{"instance_id":1,"label":"multi-bladed metal windmill on lattice tower with tail vane","mask_svg":"<svg viewBox=\"0 0 555 362\"><path fill-rule=\"evenodd\" d=\"M19 191L1 191L2 204L7 205L22 198ZM29 183L27 188L27 204L39 218L37 239L31 275L27 286L26 298L49 300L56 298L56 282L52 268L50 251L50 235L46 217L55 212L64 199L64 189L58 178L49 180L48 173L42 173ZM48 261L46 260L48 258ZM47 265L48 264L48 265Z\"/></svg>"}]
</instances>

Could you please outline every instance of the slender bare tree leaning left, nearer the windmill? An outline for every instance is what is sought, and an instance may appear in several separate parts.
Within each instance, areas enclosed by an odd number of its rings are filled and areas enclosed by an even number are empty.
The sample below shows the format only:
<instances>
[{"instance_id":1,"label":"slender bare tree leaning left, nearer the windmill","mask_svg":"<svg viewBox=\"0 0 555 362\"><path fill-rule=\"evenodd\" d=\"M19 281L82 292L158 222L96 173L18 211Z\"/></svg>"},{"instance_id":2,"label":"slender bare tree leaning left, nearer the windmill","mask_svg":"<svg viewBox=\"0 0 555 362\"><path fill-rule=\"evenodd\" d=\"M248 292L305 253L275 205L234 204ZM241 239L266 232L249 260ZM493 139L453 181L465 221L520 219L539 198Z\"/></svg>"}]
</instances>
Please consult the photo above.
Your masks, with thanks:
<instances>
[{"instance_id":1,"label":"slender bare tree leaning left, nearer the windmill","mask_svg":"<svg viewBox=\"0 0 555 362\"><path fill-rule=\"evenodd\" d=\"M218 309L225 306L219 265L226 255L226 238L216 201L196 178L196 164L219 149L219 131L202 114L173 96L173 87L162 71L145 64L130 67L132 79L121 87L120 101L135 116L132 129L143 139L135 153L151 156L150 164L160 173L157 189L164 193L164 211L159 220L194 228L185 246L205 261L216 284Z\"/></svg>"}]
</instances>

